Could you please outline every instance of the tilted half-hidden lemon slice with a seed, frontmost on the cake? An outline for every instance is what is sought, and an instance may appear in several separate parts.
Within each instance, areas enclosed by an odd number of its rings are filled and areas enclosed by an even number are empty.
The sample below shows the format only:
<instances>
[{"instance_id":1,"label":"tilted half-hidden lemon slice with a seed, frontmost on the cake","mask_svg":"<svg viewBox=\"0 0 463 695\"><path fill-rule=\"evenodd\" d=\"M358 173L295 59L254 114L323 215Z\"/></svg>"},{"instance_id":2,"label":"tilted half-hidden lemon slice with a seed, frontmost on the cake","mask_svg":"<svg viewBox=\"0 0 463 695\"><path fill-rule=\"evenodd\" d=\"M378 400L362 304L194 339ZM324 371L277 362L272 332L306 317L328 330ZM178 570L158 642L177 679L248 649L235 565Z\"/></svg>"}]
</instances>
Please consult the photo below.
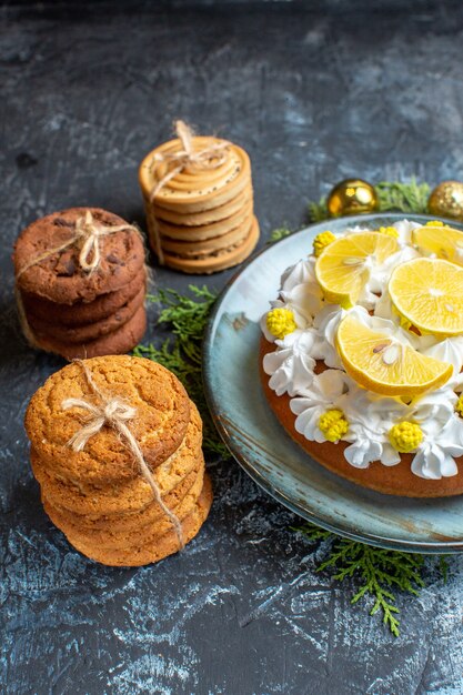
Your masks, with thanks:
<instances>
[{"instance_id":1,"label":"tilted half-hidden lemon slice with a seed, frontmost on the cake","mask_svg":"<svg viewBox=\"0 0 463 695\"><path fill-rule=\"evenodd\" d=\"M336 345L348 374L382 395L414 397L442 386L453 372L451 364L422 355L349 314L338 329Z\"/></svg>"}]
</instances>

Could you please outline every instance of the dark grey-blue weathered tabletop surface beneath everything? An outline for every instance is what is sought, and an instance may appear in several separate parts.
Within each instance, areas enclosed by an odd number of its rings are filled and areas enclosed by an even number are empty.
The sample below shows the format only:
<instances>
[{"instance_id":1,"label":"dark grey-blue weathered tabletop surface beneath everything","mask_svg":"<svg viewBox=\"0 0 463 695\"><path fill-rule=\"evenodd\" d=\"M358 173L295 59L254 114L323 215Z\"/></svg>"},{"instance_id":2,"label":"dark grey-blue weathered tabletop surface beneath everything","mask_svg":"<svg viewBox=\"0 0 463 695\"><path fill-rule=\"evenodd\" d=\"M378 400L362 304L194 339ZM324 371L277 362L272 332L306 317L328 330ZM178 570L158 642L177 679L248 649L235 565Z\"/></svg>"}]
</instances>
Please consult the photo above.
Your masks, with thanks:
<instances>
[{"instance_id":1,"label":"dark grey-blue weathered tabletop surface beneath everything","mask_svg":"<svg viewBox=\"0 0 463 695\"><path fill-rule=\"evenodd\" d=\"M73 552L41 508L21 424L62 363L20 338L10 253L63 207L143 222L137 167L178 117L248 149L262 241L346 175L461 179L463 8L125 4L0 10L1 691L461 694L461 560L446 586L430 565L421 597L400 597L395 639L350 606L352 586L314 573L294 517L233 462L211 465L213 511L183 554L124 571Z\"/></svg>"}]
</instances>

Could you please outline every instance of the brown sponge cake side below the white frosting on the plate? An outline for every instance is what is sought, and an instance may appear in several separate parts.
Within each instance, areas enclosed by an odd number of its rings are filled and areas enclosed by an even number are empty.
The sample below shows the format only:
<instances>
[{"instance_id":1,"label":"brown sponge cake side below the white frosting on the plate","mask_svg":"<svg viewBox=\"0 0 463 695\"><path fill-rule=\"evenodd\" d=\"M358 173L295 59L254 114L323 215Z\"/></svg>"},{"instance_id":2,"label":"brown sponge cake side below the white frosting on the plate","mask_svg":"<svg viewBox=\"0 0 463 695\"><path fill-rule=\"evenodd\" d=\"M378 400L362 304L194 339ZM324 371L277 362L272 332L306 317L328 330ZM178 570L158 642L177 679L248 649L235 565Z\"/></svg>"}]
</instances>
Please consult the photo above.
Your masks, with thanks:
<instances>
[{"instance_id":1,"label":"brown sponge cake side below the white frosting on the plate","mask_svg":"<svg viewBox=\"0 0 463 695\"><path fill-rule=\"evenodd\" d=\"M265 354L273 352L274 344L261 339L260 346L260 373L264 394L276 417L288 434L302 446L318 463L332 473L345 477L352 483L363 487L375 490L389 495L402 497L446 497L463 494L463 456L456 459L459 474L452 477L442 477L439 481L430 481L414 475L411 463L414 454L401 454L401 463L394 466L385 466L380 461L373 461L368 469L355 469L344 457L344 450L349 442L312 442L295 431L295 415L290 410L290 396L278 396L269 386L269 375L263 371L262 362ZM319 371L323 371L324 364L318 364Z\"/></svg>"}]
</instances>

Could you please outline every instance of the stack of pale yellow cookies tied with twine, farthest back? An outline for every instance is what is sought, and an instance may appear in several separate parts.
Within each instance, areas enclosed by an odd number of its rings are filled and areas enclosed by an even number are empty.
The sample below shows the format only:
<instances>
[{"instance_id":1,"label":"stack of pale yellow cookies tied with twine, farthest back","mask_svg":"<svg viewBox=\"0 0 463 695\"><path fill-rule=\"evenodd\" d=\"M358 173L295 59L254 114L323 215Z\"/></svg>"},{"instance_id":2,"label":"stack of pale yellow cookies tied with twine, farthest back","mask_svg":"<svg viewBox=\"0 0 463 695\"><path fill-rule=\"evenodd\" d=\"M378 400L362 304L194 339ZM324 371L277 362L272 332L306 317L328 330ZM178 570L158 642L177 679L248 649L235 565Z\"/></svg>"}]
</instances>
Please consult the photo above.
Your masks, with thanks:
<instances>
[{"instance_id":1,"label":"stack of pale yellow cookies tied with twine, farthest back","mask_svg":"<svg viewBox=\"0 0 463 695\"><path fill-rule=\"evenodd\" d=\"M251 164L244 150L218 138L179 138L140 165L150 243L161 264L213 273L241 263L259 240Z\"/></svg>"}]
</instances>

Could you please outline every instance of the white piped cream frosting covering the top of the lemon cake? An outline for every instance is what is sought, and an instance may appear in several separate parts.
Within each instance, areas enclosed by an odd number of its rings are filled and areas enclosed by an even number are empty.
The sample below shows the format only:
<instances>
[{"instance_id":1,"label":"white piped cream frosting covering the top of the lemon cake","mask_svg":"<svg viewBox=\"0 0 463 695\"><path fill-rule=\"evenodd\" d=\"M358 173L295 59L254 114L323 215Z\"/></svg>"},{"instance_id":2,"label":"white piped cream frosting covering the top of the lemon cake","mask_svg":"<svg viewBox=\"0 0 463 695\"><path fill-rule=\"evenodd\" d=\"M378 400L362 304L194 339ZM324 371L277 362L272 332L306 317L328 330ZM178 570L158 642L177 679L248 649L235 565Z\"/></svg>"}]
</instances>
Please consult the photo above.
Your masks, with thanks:
<instances>
[{"instance_id":1,"label":"white piped cream frosting covering the top of the lemon cake","mask_svg":"<svg viewBox=\"0 0 463 695\"><path fill-rule=\"evenodd\" d=\"M432 335L417 336L401 328L386 286L396 265L420 255L411 245L412 230L420 224L402 220L394 226L400 250L382 264L369 263L370 274L359 303L349 311L365 325L384 331L423 354L451 363L452 379L410 404L359 386L345 373L335 349L338 326L348 311L323 300L313 255L283 273L279 299L270 303L271 309L291 309L296 330L283 340L275 340L266 329L266 313L262 316L262 331L266 340L275 344L275 350L265 355L263 366L270 375L270 387L278 395L291 396L295 429L308 440L325 442L319 429L320 416L328 410L339 409L349 422L349 430L342 436L349 443L344 450L348 462L359 469L366 469L373 461L391 466L397 464L401 456L390 444L389 432L399 422L413 421L420 425L423 441L414 452L412 472L420 477L439 480L455 475L454 459L463 455L463 420L454 410L459 397L455 391L463 391L463 336L437 340ZM362 231L368 228L356 226L346 233ZM323 360L330 369L315 374L318 360Z\"/></svg>"}]
</instances>

